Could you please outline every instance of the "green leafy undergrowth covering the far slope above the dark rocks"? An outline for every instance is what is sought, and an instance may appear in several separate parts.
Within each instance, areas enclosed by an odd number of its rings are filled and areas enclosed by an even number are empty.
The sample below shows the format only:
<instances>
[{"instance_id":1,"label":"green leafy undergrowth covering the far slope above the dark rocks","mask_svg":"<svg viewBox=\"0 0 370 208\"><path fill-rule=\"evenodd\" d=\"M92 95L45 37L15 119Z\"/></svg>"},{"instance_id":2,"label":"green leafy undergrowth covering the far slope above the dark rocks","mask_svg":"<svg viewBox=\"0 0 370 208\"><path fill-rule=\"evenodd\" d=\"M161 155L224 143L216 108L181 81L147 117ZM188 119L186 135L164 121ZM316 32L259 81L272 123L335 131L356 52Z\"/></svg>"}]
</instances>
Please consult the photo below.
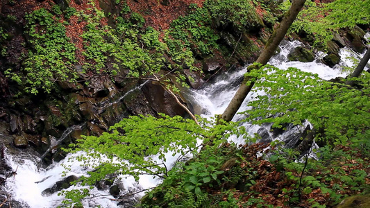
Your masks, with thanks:
<instances>
[{"instance_id":1,"label":"green leafy undergrowth covering the far slope above the dark rocks","mask_svg":"<svg viewBox=\"0 0 370 208\"><path fill-rule=\"evenodd\" d=\"M220 50L223 27L233 24L246 31L263 25L252 1L205 1L201 8L191 4L187 15L160 33L146 26L144 18L132 12L125 1L116 3L121 8L119 14L105 14L89 1L85 11L72 7L61 10L54 5L50 10L41 8L26 15L24 35L30 49L24 54L22 69L8 69L6 76L25 93L37 94L52 92L58 88L57 82L84 79L81 73L142 78L167 70L180 75L183 69L199 70L198 60ZM83 49L77 50L66 35L65 26L71 24L72 17L84 26ZM1 51L6 55L6 49ZM187 79L178 78L183 83Z\"/></svg>"}]
</instances>

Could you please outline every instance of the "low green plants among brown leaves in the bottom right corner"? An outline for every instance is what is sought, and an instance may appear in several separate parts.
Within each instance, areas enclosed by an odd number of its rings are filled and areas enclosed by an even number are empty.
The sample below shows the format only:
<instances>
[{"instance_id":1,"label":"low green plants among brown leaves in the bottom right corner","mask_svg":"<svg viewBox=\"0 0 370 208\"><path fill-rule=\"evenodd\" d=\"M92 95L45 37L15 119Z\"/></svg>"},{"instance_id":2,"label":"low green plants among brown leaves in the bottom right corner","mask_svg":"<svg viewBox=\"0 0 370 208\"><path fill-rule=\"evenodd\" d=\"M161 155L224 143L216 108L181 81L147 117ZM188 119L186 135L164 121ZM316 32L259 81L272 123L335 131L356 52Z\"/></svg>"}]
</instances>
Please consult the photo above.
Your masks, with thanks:
<instances>
[{"instance_id":1,"label":"low green plants among brown leaves in the bottom right corner","mask_svg":"<svg viewBox=\"0 0 370 208\"><path fill-rule=\"evenodd\" d=\"M323 201L317 202L313 198L308 200L312 207L333 206L341 202L347 194L358 194L367 189L367 173L363 168L369 166L369 159L359 157L358 147L345 149L344 146L337 146L333 151L333 148L325 146L315 151L320 153L321 158L309 159L308 172L304 174L301 186L299 181L304 164L295 162L298 155L291 157L288 151L277 151L278 159L273 163L283 166L285 177L293 182L292 186L287 186L283 191L289 197L290 203L298 202L298 193L301 191L302 195L319 193L319 198L325 199L324 204Z\"/></svg>"}]
</instances>

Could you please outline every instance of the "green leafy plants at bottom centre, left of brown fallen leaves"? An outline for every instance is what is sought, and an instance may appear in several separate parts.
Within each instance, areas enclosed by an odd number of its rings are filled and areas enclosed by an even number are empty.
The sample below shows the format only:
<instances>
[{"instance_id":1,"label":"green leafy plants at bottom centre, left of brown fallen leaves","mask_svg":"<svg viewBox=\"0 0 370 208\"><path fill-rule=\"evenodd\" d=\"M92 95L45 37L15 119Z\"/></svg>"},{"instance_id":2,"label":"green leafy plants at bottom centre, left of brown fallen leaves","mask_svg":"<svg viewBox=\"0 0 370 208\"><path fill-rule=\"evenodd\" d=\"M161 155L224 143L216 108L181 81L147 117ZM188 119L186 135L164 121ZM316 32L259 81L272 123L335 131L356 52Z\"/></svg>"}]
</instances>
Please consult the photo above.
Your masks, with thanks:
<instances>
[{"instance_id":1,"label":"green leafy plants at bottom centre, left of brown fallen leaves","mask_svg":"<svg viewBox=\"0 0 370 208\"><path fill-rule=\"evenodd\" d=\"M210 207L208 188L219 186L218 171L228 159L217 146L207 147L185 166L174 168L162 184L142 200L142 207Z\"/></svg>"}]
</instances>

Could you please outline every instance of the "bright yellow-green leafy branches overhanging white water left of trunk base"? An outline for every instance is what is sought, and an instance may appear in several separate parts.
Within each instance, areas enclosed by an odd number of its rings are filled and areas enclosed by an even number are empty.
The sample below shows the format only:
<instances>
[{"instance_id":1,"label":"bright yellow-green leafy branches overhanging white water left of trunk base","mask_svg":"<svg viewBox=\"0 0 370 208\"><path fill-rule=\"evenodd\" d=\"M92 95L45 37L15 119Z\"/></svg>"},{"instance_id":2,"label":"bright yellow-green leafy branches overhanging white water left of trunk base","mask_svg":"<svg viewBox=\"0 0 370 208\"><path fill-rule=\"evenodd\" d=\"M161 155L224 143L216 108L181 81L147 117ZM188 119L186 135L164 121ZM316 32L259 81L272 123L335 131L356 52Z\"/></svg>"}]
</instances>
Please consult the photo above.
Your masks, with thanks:
<instances>
[{"instance_id":1,"label":"bright yellow-green leafy branches overhanging white water left of trunk base","mask_svg":"<svg viewBox=\"0 0 370 208\"><path fill-rule=\"evenodd\" d=\"M72 159L83 161L85 166L95 169L89 173L89 177L81 177L81 183L93 185L112 173L132 175L135 180L142 174L167 177L171 180L172 170L165 165L166 157L177 155L178 160L174 165L181 167L179 159L185 155L197 155L200 144L208 143L210 138L214 138L215 146L219 146L225 140L215 135L232 128L231 125L212 128L215 123L204 119L201 119L200 126L194 120L180 116L161 116L160 119L153 116L131 116L112 126L110 133L104 132L100 137L83 137L78 140L78 144L72 145L74 149L68 150L69 152L86 153ZM186 168L186 173L193 174L186 177L187 180L183 184L188 191L201 193L199 187L215 180L221 173L215 167L219 164L215 157L210 157L208 162L215 165L205 166L206 163L199 163ZM71 196L74 195L69 191L63 192L63 195L73 201Z\"/></svg>"}]
</instances>

